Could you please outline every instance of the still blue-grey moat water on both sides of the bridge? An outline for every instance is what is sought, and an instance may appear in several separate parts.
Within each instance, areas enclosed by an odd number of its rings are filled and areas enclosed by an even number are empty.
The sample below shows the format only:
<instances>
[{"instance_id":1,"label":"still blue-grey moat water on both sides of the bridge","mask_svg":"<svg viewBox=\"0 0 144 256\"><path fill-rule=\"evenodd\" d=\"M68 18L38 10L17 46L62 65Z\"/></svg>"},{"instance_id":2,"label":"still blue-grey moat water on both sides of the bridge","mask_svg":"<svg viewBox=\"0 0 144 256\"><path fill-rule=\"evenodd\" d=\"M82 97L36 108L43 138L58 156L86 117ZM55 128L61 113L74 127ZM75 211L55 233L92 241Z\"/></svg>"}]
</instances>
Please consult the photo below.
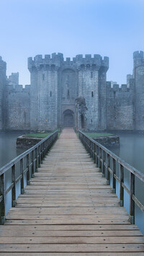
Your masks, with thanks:
<instances>
[{"instance_id":1,"label":"still blue-grey moat water on both sides of the bridge","mask_svg":"<svg viewBox=\"0 0 144 256\"><path fill-rule=\"evenodd\" d=\"M140 172L144 173L144 134L133 132L111 132L120 136L120 148L111 146L109 149L120 156L125 162L131 164ZM17 137L22 135L18 132L0 132L0 167L8 163L24 150L16 148ZM118 169L117 169L117 175ZM6 187L11 184L11 173L6 175ZM129 173L125 171L125 185L129 187ZM9 211L11 193L6 196L6 212ZM19 195L19 184L17 184L17 196ZM117 184L117 195L119 196L119 184ZM135 195L144 204L144 184L138 179L135 180ZM129 213L129 195L125 193L125 208ZM144 213L135 207L135 224L138 225L144 234Z\"/></svg>"}]
</instances>

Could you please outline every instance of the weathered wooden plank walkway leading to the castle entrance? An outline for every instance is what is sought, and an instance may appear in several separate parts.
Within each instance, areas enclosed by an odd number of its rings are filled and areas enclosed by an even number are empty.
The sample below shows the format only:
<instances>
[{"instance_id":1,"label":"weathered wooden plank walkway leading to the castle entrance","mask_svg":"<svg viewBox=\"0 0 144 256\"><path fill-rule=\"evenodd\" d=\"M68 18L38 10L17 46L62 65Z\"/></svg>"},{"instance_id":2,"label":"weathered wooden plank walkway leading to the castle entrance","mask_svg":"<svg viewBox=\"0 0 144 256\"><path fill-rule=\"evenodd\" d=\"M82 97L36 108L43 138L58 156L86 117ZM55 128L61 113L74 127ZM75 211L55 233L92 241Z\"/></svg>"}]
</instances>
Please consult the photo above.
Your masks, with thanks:
<instances>
[{"instance_id":1,"label":"weathered wooden plank walkway leading to the castle entrance","mask_svg":"<svg viewBox=\"0 0 144 256\"><path fill-rule=\"evenodd\" d=\"M0 255L144 255L144 237L72 129L0 226Z\"/></svg>"}]
</instances>

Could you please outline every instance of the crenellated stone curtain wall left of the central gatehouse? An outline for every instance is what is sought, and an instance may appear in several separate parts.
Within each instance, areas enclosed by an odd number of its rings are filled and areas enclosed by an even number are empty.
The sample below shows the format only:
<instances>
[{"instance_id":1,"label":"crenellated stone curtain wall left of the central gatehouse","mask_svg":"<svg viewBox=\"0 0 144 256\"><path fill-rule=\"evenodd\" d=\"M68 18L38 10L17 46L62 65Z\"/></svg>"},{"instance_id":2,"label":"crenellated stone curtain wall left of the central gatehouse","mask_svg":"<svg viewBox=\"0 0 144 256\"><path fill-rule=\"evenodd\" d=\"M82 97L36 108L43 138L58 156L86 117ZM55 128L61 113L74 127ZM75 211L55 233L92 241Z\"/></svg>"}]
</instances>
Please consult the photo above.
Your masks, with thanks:
<instances>
[{"instance_id":1,"label":"crenellated stone curtain wall left of the central gatehouse","mask_svg":"<svg viewBox=\"0 0 144 256\"><path fill-rule=\"evenodd\" d=\"M30 86L6 86L6 130L30 130Z\"/></svg>"}]
</instances>

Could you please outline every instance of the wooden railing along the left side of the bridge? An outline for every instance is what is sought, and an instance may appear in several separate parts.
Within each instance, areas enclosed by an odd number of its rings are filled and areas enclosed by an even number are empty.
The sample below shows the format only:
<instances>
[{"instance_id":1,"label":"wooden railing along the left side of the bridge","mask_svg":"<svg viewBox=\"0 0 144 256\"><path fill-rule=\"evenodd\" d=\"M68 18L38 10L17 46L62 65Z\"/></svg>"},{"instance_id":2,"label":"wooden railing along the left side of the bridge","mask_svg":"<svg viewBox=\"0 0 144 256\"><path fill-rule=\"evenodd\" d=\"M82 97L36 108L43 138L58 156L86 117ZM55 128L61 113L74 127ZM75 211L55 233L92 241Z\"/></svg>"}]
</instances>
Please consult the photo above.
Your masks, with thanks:
<instances>
[{"instance_id":1,"label":"wooden railing along the left side of the bridge","mask_svg":"<svg viewBox=\"0 0 144 256\"><path fill-rule=\"evenodd\" d=\"M20 192L24 193L24 177L27 181L26 185L30 184L30 178L34 177L37 168L40 167L45 154L48 153L50 147L58 138L58 131L51 133L47 138L42 139L32 148L24 151L11 162L0 168L0 224L5 221L6 195L12 191L12 207L16 204L17 182L20 181ZM17 169L20 175L17 177ZM11 172L12 182L6 188L6 172Z\"/></svg>"}]
</instances>

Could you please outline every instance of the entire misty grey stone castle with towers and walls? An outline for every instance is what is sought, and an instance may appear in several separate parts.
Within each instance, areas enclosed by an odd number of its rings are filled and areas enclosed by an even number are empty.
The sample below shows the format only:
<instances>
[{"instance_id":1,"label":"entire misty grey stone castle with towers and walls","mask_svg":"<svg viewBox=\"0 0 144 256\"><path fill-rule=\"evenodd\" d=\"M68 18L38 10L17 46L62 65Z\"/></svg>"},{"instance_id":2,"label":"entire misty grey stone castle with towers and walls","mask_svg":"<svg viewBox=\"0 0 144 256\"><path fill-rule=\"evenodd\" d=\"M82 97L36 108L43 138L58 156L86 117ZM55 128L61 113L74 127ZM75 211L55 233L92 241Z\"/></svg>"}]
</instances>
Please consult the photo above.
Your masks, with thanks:
<instances>
[{"instance_id":1,"label":"entire misty grey stone castle with towers and walls","mask_svg":"<svg viewBox=\"0 0 144 256\"><path fill-rule=\"evenodd\" d=\"M144 54L133 53L127 84L107 81L109 58L63 58L62 53L28 58L31 84L6 77L0 57L0 130L144 130Z\"/></svg>"}]
</instances>

